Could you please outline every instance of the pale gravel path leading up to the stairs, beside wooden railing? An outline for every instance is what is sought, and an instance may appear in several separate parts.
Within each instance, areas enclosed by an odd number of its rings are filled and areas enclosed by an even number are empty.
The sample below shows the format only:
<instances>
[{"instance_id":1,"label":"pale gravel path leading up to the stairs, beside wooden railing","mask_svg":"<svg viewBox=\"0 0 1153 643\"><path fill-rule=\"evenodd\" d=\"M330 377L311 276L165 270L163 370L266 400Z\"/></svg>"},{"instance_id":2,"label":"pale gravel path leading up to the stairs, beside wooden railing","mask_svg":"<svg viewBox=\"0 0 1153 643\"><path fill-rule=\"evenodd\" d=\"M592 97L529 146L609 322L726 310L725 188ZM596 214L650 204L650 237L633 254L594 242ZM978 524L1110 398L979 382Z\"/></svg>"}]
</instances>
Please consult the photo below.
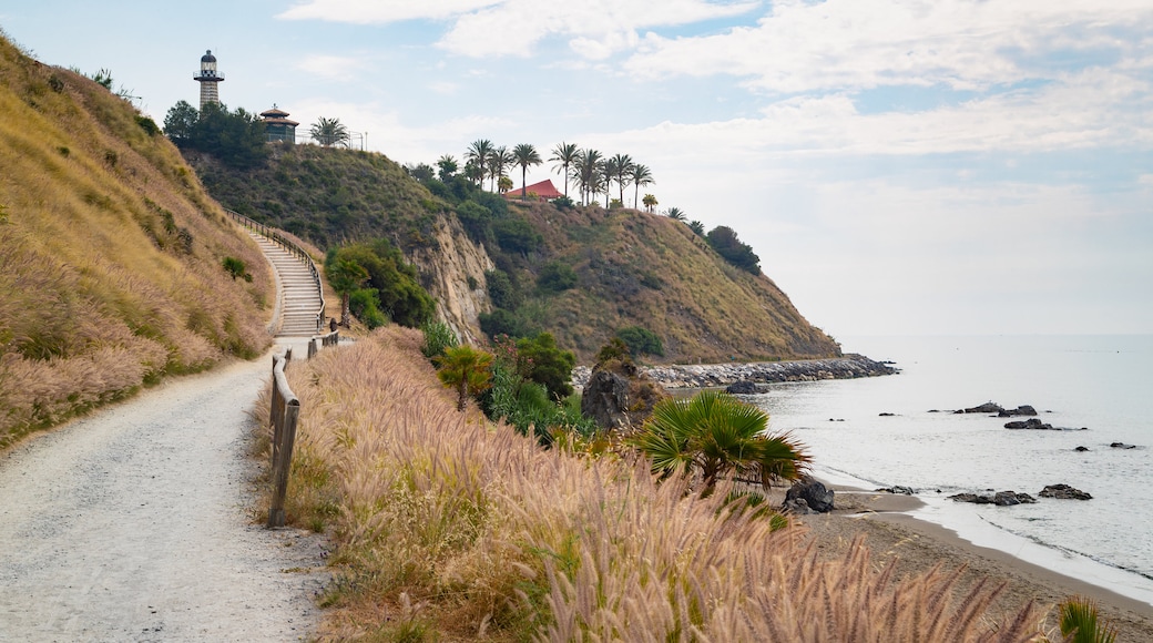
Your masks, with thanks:
<instances>
[{"instance_id":1,"label":"pale gravel path leading up to the stairs, beside wooden railing","mask_svg":"<svg viewBox=\"0 0 1153 643\"><path fill-rule=\"evenodd\" d=\"M319 540L253 524L271 358L178 378L0 456L0 640L297 641Z\"/></svg>"}]
</instances>

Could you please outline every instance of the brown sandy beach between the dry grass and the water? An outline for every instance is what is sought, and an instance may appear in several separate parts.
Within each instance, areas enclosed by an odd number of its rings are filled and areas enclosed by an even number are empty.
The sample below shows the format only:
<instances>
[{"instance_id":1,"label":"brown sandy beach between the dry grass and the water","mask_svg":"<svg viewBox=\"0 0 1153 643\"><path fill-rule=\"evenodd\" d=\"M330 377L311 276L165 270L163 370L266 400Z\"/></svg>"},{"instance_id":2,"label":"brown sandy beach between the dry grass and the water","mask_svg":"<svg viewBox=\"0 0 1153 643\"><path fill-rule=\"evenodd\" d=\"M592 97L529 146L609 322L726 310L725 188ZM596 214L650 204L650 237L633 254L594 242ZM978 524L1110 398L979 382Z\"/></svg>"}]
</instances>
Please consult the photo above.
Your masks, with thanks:
<instances>
[{"instance_id":1,"label":"brown sandy beach between the dry grass and the water","mask_svg":"<svg viewBox=\"0 0 1153 643\"><path fill-rule=\"evenodd\" d=\"M1101 616L1117 627L1118 642L1153 641L1153 605L1054 573L1002 551L973 545L951 530L911 516L907 512L921 505L914 497L838 485L832 489L837 507L834 512L797 519L821 555L841 555L854 537L864 534L874 565L896 565L898 577L927 572L935 565L944 569L965 566L962 591L981 580L993 587L1005 583L995 611L1013 611L1034 600L1050 608L1047 630L1056 629L1055 605L1069 596L1087 596L1098 602ZM779 505L779 499L776 502Z\"/></svg>"}]
</instances>

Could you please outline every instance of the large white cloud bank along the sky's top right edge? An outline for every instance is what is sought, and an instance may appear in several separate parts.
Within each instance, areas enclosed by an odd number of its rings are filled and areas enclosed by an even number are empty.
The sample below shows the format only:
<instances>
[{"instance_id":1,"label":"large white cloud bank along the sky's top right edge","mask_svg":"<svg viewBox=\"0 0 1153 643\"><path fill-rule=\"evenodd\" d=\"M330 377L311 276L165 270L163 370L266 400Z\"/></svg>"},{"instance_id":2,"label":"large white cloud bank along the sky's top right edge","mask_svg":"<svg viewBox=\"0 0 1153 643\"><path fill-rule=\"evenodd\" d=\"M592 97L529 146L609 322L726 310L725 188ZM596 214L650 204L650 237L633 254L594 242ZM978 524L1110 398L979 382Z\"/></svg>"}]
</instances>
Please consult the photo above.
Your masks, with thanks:
<instances>
[{"instance_id":1,"label":"large white cloud bank along the sky's top right edge","mask_svg":"<svg viewBox=\"0 0 1153 643\"><path fill-rule=\"evenodd\" d=\"M781 93L973 90L1047 76L1053 54L1121 56L1148 70L1148 41L1117 33L1151 29L1146 0L784 0L756 27L675 39L648 33L625 68L642 77L726 74Z\"/></svg>"}]
</instances>

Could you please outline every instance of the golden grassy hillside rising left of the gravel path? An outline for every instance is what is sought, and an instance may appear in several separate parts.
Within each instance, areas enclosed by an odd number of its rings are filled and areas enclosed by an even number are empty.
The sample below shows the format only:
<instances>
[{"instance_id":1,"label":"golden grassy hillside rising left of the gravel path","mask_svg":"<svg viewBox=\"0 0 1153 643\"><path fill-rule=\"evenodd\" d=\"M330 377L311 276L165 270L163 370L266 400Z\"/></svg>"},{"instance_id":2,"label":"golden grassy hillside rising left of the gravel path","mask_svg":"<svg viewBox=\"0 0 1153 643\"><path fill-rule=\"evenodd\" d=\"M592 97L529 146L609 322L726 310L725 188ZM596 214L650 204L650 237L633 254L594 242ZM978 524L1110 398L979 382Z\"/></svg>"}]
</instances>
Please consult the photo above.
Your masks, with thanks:
<instances>
[{"instance_id":1,"label":"golden grassy hillside rising left of the gravel path","mask_svg":"<svg viewBox=\"0 0 1153 643\"><path fill-rule=\"evenodd\" d=\"M156 123L2 37L0 114L0 448L267 347L267 264Z\"/></svg>"}]
</instances>

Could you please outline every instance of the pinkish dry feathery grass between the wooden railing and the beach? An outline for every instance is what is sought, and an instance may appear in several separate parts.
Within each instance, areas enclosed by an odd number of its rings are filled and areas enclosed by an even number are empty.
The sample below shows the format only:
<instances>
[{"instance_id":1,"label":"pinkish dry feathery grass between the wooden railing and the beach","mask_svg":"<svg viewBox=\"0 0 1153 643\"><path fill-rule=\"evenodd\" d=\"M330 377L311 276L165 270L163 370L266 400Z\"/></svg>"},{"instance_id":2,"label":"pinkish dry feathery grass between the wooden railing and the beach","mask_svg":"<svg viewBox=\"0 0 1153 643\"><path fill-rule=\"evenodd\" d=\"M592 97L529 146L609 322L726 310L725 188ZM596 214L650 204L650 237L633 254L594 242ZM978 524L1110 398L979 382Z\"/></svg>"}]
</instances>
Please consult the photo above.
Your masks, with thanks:
<instances>
[{"instance_id":1,"label":"pinkish dry feathery grass between the wooden railing and the beach","mask_svg":"<svg viewBox=\"0 0 1153 643\"><path fill-rule=\"evenodd\" d=\"M957 600L954 574L896 581L797 528L657 486L640 462L545 452L459 414L386 328L288 371L301 399L289 520L330 529L324 638L1027 641L1040 614Z\"/></svg>"}]
</instances>

